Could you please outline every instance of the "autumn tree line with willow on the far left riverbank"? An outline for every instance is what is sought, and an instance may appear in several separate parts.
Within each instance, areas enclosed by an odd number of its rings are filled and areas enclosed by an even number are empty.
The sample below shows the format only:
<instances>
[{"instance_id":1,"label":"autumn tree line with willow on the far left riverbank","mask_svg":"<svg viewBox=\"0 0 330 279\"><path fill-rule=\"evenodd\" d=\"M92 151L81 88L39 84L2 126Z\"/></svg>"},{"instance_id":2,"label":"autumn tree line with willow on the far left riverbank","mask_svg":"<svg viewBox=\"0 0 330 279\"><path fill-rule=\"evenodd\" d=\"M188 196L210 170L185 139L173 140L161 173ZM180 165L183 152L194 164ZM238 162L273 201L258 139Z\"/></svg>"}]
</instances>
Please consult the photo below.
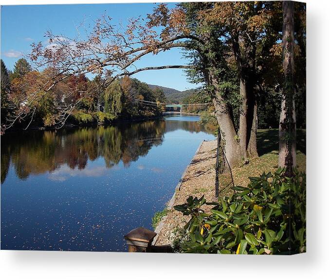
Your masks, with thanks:
<instances>
[{"instance_id":1,"label":"autumn tree line with willow on the far left riverbank","mask_svg":"<svg viewBox=\"0 0 330 279\"><path fill-rule=\"evenodd\" d=\"M29 96L46 82L47 77L54 75L54 71L50 67L34 70L24 58L18 59L14 70L10 71L1 60L2 128L53 127L56 124L61 127L64 123L88 125L121 119L145 119L160 116L163 108L161 105L146 106L136 100L166 101L161 88L151 89L147 83L134 78L118 78L105 86L100 75L90 80L85 74L77 74L56 83L52 94L28 104ZM33 117L21 117L19 121L12 122L19 109L29 110L31 105L35 108ZM61 112L63 108L66 110ZM61 118L59 113L62 113Z\"/></svg>"}]
</instances>

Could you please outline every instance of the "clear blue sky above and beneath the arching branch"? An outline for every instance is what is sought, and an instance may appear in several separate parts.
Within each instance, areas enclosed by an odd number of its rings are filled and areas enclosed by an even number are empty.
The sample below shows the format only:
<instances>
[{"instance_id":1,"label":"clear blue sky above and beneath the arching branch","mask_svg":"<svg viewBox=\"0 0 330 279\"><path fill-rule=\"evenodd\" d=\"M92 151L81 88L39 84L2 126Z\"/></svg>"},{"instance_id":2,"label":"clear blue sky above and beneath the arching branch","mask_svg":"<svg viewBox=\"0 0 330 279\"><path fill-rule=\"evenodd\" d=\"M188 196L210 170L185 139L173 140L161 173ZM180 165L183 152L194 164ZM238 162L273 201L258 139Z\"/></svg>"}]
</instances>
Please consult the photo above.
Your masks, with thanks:
<instances>
[{"instance_id":1,"label":"clear blue sky above and beneath the arching branch","mask_svg":"<svg viewBox=\"0 0 330 279\"><path fill-rule=\"evenodd\" d=\"M1 59L8 69L13 69L22 54L30 52L32 42L45 42L44 34L52 30L55 34L74 37L76 26L93 26L93 20L105 13L114 22L122 22L136 16L151 13L155 4L75 4L75 5L21 5L1 6ZM169 3L169 7L174 3ZM147 55L137 66L185 65L181 49L172 49L157 56ZM140 72L134 76L143 82L185 90L197 87L186 81L184 70L164 69Z\"/></svg>"}]
</instances>

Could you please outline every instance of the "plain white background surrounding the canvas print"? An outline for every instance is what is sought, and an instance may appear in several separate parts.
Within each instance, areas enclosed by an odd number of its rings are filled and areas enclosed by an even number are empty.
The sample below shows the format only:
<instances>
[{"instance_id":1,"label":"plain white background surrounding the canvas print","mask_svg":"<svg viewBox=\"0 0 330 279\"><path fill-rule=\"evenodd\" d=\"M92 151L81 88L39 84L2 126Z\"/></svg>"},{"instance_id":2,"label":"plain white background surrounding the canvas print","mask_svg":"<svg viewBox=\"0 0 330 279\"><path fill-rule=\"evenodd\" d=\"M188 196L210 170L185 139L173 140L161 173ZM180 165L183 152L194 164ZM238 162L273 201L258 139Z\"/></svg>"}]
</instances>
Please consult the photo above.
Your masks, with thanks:
<instances>
[{"instance_id":1,"label":"plain white background surrounding the canvas print","mask_svg":"<svg viewBox=\"0 0 330 279\"><path fill-rule=\"evenodd\" d=\"M0 0L44 4L45 0ZM49 0L87 3L91 0ZM97 0L96 3L138 2ZM154 2L144 0L143 2ZM0 251L1 278L326 278L330 274L330 1L307 0L307 253L226 256ZM15 18L13 18L15 20Z\"/></svg>"}]
</instances>

